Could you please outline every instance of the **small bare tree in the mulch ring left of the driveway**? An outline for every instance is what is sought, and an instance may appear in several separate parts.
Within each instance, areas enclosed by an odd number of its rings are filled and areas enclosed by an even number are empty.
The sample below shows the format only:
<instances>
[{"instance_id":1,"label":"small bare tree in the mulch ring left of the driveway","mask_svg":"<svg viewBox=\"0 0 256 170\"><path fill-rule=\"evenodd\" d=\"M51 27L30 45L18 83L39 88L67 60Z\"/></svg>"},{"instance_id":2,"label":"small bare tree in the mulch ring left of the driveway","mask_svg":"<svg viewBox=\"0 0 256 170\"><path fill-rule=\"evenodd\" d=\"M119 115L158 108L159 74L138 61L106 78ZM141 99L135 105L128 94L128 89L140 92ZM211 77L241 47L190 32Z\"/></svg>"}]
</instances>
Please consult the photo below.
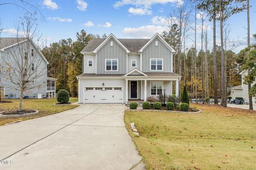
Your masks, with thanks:
<instances>
[{"instance_id":1,"label":"small bare tree in the mulch ring left of the driveway","mask_svg":"<svg viewBox=\"0 0 256 170\"><path fill-rule=\"evenodd\" d=\"M25 93L41 88L46 84L45 62L38 47L33 43L36 38L37 19L35 15L27 14L17 28L17 43L9 50L10 57L4 57L4 77L11 82L11 88L20 91L19 111L22 109L22 101ZM20 36L22 35L22 38ZM35 50L36 49L36 50Z\"/></svg>"}]
</instances>

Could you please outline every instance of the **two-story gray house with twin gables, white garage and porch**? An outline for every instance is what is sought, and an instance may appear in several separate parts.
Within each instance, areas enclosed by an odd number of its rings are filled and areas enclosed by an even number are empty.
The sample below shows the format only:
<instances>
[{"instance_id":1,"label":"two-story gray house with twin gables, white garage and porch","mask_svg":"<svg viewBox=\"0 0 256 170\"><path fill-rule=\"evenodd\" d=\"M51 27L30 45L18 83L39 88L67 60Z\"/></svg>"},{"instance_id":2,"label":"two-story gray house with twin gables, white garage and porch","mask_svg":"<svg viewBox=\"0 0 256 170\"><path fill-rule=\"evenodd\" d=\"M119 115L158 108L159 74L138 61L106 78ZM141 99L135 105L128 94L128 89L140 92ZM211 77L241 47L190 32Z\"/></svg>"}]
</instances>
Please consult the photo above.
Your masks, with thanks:
<instances>
[{"instance_id":1,"label":"two-story gray house with twin gables, white garage and porch","mask_svg":"<svg viewBox=\"0 0 256 170\"><path fill-rule=\"evenodd\" d=\"M79 103L146 101L159 94L179 96L180 75L173 73L175 50L158 34L151 39L94 38L82 50Z\"/></svg>"}]
</instances>

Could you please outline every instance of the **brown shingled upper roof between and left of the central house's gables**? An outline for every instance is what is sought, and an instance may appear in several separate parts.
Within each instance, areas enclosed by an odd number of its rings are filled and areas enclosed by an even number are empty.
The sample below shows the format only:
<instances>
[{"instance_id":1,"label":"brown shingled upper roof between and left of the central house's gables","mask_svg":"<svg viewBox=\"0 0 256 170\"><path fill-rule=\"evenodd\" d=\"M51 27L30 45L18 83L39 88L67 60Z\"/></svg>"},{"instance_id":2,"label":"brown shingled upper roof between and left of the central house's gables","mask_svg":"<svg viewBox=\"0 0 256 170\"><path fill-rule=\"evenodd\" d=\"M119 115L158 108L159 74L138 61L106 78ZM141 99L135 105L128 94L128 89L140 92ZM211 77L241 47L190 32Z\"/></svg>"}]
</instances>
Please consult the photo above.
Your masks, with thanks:
<instances>
[{"instance_id":1,"label":"brown shingled upper roof between and left of the central house's gables","mask_svg":"<svg viewBox=\"0 0 256 170\"><path fill-rule=\"evenodd\" d=\"M82 50L82 53L92 53L105 39L94 38ZM150 39L118 39L130 52L138 52Z\"/></svg>"}]
</instances>

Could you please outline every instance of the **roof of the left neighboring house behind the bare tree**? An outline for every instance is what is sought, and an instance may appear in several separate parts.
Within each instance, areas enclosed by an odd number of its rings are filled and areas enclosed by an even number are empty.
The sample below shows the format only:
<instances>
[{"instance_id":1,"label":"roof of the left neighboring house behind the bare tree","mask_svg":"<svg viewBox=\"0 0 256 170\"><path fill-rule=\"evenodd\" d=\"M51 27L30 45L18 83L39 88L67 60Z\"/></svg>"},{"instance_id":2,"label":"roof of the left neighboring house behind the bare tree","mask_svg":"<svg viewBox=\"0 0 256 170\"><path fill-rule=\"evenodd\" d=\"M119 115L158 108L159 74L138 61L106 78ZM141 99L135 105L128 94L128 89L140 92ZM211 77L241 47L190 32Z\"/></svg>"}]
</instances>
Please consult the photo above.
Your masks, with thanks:
<instances>
[{"instance_id":1,"label":"roof of the left neighboring house behind the bare tree","mask_svg":"<svg viewBox=\"0 0 256 170\"><path fill-rule=\"evenodd\" d=\"M31 39L29 39L29 40L30 40L31 44L33 44L33 46L36 47L37 52L39 53L39 55L41 55L43 57L43 60L46 62L46 64L49 64L49 62L46 60L44 55L41 53L41 50L38 49L38 47L36 46L34 41ZM23 43L25 41L27 41L27 38L1 38L0 39L0 50L3 51L4 49L13 47L13 46Z\"/></svg>"}]
</instances>

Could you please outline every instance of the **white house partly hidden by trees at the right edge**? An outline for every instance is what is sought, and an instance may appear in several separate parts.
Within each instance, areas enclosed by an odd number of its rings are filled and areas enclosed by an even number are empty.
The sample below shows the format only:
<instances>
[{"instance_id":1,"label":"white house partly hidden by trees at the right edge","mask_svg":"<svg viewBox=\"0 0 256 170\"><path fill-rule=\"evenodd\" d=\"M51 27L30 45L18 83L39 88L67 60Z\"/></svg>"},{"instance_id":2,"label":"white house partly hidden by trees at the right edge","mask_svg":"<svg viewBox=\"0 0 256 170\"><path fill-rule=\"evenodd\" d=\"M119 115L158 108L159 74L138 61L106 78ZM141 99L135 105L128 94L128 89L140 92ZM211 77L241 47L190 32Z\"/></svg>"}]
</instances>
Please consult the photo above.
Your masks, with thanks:
<instances>
[{"instance_id":1,"label":"white house partly hidden by trees at the right edge","mask_svg":"<svg viewBox=\"0 0 256 170\"><path fill-rule=\"evenodd\" d=\"M239 73L242 75L242 84L236 87L231 88L231 97L232 99L235 99L236 97L243 97L248 103L249 103L249 95L248 95L248 85L244 84L244 77L248 74L247 70L242 71ZM252 83L255 84L256 81ZM252 103L255 104L255 98L252 98Z\"/></svg>"}]
</instances>

